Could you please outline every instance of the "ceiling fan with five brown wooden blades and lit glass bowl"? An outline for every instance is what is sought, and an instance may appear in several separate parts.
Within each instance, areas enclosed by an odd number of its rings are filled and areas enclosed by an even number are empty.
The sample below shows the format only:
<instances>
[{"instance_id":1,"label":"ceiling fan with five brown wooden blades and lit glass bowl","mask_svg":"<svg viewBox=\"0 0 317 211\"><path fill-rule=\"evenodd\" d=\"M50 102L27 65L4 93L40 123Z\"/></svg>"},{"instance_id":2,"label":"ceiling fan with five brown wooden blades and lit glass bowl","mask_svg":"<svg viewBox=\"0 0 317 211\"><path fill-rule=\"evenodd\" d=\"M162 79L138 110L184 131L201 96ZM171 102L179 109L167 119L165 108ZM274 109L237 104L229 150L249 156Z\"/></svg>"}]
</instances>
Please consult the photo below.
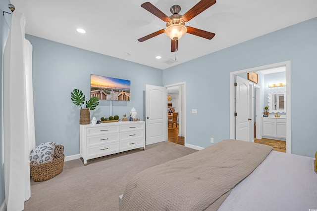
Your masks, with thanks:
<instances>
[{"instance_id":1,"label":"ceiling fan with five brown wooden blades and lit glass bowl","mask_svg":"<svg viewBox=\"0 0 317 211\"><path fill-rule=\"evenodd\" d=\"M147 35L143 38L138 39L139 42L143 42L153 38L157 35L165 33L170 39L171 42L171 52L175 52L178 49L178 40L187 32L192 35L196 35L202 38L206 38L211 40L214 37L214 33L207 32L201 29L196 29L190 26L184 26L186 22L203 12L204 10L211 7L216 3L216 0L201 0L195 6L193 6L190 10L188 10L184 15L180 15L180 6L173 5L170 8L171 16L165 15L162 11L160 11L156 6L154 6L150 2L145 2L141 4L141 7L145 8L159 19L166 22L166 28L161 29L157 32L154 32L150 35Z\"/></svg>"}]
</instances>

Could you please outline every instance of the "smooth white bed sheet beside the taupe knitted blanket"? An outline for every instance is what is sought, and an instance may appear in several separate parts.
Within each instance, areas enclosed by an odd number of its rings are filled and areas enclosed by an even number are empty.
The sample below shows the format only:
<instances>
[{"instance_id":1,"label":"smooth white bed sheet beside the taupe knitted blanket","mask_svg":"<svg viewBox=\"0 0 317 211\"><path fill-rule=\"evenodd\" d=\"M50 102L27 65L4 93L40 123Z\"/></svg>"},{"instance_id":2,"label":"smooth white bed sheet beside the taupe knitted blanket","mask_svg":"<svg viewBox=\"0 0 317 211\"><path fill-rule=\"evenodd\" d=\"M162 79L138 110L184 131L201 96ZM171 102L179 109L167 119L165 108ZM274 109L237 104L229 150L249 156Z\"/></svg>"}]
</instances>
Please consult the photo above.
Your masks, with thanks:
<instances>
[{"instance_id":1,"label":"smooth white bed sheet beside the taupe knitted blanket","mask_svg":"<svg viewBox=\"0 0 317 211\"><path fill-rule=\"evenodd\" d=\"M314 158L272 151L241 181L218 211L309 211L317 209Z\"/></svg>"}]
</instances>

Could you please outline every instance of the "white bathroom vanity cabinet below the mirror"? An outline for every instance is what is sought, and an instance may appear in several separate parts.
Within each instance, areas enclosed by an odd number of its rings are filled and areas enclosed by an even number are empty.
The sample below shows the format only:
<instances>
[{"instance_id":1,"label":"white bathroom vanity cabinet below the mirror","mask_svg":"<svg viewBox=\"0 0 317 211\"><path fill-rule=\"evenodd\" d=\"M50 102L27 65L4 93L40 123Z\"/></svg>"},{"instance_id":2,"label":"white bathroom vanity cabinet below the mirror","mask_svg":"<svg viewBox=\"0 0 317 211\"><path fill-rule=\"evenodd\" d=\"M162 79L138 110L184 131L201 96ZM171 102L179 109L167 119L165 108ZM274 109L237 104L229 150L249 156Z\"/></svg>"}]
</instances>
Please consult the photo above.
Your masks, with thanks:
<instances>
[{"instance_id":1,"label":"white bathroom vanity cabinet below the mirror","mask_svg":"<svg viewBox=\"0 0 317 211\"><path fill-rule=\"evenodd\" d=\"M286 118L271 117L262 118L262 138L286 140Z\"/></svg>"}]
</instances>

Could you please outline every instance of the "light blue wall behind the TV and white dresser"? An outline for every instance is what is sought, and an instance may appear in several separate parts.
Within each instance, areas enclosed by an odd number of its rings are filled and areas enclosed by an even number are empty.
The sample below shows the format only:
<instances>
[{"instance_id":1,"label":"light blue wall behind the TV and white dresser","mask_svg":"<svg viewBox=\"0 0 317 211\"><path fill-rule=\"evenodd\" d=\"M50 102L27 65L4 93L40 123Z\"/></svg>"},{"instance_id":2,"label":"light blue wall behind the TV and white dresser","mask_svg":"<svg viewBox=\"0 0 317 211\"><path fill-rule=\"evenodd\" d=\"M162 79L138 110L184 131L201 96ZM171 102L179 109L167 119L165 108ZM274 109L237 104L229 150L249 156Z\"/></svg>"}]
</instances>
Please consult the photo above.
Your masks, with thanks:
<instances>
[{"instance_id":1,"label":"light blue wall behind the TV and white dresser","mask_svg":"<svg viewBox=\"0 0 317 211\"><path fill-rule=\"evenodd\" d=\"M65 156L79 154L80 107L70 100L78 88L90 98L90 75L131 81L131 101L112 103L120 119L134 107L144 120L146 84L162 85L162 71L69 45L26 35L33 45L33 94L36 144L54 141L65 147ZM97 119L110 116L110 101L100 101L90 113Z\"/></svg>"}]
</instances>

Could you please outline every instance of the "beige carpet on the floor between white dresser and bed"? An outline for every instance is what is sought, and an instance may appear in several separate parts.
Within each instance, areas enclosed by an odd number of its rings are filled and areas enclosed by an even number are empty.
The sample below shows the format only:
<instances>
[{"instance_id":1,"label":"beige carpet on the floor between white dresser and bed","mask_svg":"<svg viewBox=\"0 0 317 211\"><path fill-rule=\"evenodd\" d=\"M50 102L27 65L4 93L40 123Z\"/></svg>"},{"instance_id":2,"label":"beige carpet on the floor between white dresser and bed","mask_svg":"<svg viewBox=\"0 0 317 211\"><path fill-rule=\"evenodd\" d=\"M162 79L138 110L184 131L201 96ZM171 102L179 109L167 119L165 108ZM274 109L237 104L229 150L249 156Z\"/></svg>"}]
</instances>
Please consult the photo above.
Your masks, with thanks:
<instances>
[{"instance_id":1,"label":"beige carpet on the floor between white dresser and bed","mask_svg":"<svg viewBox=\"0 0 317 211\"><path fill-rule=\"evenodd\" d=\"M196 152L168 141L146 149L88 160L64 163L63 171L44 182L31 178L31 198L25 211L117 211L118 196L136 173Z\"/></svg>"}]
</instances>

